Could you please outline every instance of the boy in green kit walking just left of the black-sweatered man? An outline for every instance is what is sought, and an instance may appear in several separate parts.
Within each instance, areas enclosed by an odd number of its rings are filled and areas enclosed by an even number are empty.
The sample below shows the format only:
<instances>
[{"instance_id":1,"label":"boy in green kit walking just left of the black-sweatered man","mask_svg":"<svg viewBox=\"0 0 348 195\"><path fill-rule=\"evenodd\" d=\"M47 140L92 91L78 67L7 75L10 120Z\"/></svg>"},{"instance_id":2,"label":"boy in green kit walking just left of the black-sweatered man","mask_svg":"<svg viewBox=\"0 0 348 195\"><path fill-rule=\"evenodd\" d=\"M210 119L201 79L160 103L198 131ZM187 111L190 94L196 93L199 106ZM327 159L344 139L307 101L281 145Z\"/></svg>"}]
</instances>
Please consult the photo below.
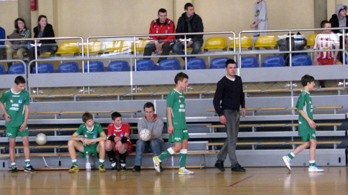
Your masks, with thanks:
<instances>
[{"instance_id":1,"label":"boy in green kit walking just left of the black-sweatered man","mask_svg":"<svg viewBox=\"0 0 348 195\"><path fill-rule=\"evenodd\" d=\"M185 118L185 95L182 93L183 88L187 88L189 76L180 72L175 76L175 88L167 95L167 127L169 138L168 141L174 143L174 146L168 148L159 156L153 157L155 169L159 173L161 162L166 157L180 151L180 168L179 175L194 174L185 168L187 157L187 146L189 145L189 132Z\"/></svg>"}]
</instances>

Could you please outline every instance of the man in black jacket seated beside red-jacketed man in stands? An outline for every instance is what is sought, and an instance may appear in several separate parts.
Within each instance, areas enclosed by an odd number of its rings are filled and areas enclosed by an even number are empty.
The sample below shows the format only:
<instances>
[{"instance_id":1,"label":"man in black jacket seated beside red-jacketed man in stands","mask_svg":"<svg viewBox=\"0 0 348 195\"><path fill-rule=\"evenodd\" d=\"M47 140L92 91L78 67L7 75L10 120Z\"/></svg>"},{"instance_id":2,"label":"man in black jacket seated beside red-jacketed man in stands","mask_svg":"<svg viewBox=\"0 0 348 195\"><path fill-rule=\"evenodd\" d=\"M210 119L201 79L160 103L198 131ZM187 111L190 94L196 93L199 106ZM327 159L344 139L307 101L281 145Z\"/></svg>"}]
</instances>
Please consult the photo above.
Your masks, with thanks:
<instances>
[{"instance_id":1,"label":"man in black jacket seated beside red-jacketed man in stands","mask_svg":"<svg viewBox=\"0 0 348 195\"><path fill-rule=\"evenodd\" d=\"M179 20L177 20L176 33L198 33L203 32L203 22L199 15L194 13L194 7L191 3L186 3L184 6L185 12L182 13ZM200 47L203 45L203 34L201 35L189 35L186 36L186 42L184 40L185 36L176 36L177 43L174 45L174 51L179 55L184 55L185 45L186 47L191 47L191 54L198 54ZM184 57L182 58L184 59Z\"/></svg>"}]
</instances>

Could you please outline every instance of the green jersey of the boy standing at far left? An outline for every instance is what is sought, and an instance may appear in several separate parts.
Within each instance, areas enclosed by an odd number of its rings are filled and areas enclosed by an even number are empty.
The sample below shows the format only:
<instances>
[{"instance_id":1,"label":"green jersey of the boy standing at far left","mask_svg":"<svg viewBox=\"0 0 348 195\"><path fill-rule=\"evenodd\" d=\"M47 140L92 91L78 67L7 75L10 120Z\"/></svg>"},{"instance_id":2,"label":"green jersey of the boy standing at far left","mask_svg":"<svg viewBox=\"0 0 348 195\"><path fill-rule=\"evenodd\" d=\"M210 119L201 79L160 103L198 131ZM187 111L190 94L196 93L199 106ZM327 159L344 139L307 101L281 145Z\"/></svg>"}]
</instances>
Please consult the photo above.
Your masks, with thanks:
<instances>
[{"instance_id":1,"label":"green jersey of the boy standing at far left","mask_svg":"<svg viewBox=\"0 0 348 195\"><path fill-rule=\"evenodd\" d=\"M29 92L13 93L12 88L3 92L0 102L6 104L5 109L11 121L6 122L6 127L19 127L24 123L25 105L30 104Z\"/></svg>"}]
</instances>

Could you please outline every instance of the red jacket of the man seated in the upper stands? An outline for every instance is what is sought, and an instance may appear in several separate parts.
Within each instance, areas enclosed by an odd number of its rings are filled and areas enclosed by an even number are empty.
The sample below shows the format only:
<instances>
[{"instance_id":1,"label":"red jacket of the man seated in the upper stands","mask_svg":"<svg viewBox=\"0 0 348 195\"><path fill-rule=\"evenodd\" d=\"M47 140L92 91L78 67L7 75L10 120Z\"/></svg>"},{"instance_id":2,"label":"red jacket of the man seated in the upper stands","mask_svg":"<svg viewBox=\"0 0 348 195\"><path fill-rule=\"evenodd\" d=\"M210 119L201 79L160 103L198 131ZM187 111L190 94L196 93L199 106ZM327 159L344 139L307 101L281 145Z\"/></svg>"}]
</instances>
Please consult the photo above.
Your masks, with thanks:
<instances>
[{"instance_id":1,"label":"red jacket of the man seated in the upper stands","mask_svg":"<svg viewBox=\"0 0 348 195\"><path fill-rule=\"evenodd\" d=\"M164 24L159 23L159 19L152 20L149 34L175 33L175 24L167 18ZM150 36L150 40L163 40L164 43L175 40L175 36Z\"/></svg>"}]
</instances>

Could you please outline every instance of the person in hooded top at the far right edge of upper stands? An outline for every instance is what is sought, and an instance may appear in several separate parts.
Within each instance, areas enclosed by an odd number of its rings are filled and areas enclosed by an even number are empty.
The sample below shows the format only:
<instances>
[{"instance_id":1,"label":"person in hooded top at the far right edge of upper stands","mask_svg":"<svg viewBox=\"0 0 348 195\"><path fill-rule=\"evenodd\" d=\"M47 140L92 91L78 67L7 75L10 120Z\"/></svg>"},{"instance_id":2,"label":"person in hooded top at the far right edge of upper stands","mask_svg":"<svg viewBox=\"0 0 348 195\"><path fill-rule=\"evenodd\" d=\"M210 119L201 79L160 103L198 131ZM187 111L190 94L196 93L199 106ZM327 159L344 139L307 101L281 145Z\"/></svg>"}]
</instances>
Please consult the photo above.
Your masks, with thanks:
<instances>
[{"instance_id":1,"label":"person in hooded top at the far right edge of upper stands","mask_svg":"<svg viewBox=\"0 0 348 195\"><path fill-rule=\"evenodd\" d=\"M347 6L344 6L342 4L338 4L336 6L336 13L332 15L330 22L332 28L338 28L338 27L347 27L348 26L348 16L347 14ZM342 30L334 30L334 33L342 33ZM347 33L347 30L345 31ZM345 37L345 44L347 45L347 36ZM340 35L340 49L343 48L343 36ZM342 52L338 53L338 59L340 61L343 61L342 59Z\"/></svg>"}]
</instances>

